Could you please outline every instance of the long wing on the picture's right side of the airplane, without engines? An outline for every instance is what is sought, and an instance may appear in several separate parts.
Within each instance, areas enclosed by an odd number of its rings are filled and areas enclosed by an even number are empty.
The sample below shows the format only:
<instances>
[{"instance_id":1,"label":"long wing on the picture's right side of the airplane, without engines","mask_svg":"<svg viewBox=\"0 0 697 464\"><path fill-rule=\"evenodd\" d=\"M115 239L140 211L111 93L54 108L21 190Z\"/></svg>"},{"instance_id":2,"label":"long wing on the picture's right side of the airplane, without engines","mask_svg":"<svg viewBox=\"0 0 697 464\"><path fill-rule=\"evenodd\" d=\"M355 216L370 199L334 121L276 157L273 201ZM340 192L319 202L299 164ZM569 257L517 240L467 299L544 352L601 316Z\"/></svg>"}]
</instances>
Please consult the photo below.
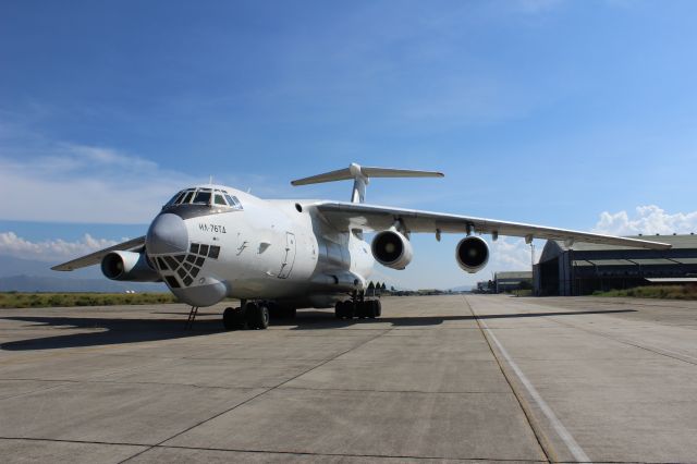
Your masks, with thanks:
<instances>
[{"instance_id":1,"label":"long wing on the picture's right side of the airplane, without engines","mask_svg":"<svg viewBox=\"0 0 697 464\"><path fill-rule=\"evenodd\" d=\"M671 247L667 243L645 240L377 205L338 202L319 203L316 208L329 223L339 230L382 231L392 227L395 221L401 221L407 232L467 233L469 231L473 233L524 236L526 240L558 240L570 244L573 244L573 242L590 242L650 249L667 249Z\"/></svg>"}]
</instances>

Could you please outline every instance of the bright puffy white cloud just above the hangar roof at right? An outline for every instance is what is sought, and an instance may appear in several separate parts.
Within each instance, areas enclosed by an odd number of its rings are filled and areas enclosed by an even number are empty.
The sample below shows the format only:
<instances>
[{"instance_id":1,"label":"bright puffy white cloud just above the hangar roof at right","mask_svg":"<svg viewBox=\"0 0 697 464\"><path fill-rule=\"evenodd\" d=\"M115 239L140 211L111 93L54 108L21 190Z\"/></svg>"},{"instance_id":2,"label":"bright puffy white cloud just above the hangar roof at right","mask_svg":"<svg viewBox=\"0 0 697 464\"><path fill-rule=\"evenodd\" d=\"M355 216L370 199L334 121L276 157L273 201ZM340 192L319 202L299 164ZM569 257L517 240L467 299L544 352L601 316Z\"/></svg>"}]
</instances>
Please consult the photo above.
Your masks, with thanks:
<instances>
[{"instance_id":1,"label":"bright puffy white cloud just above the hangar roof at right","mask_svg":"<svg viewBox=\"0 0 697 464\"><path fill-rule=\"evenodd\" d=\"M633 215L627 211L603 211L594 232L612 235L697 232L697 211L669 213L656 205L638 206Z\"/></svg>"}]
</instances>

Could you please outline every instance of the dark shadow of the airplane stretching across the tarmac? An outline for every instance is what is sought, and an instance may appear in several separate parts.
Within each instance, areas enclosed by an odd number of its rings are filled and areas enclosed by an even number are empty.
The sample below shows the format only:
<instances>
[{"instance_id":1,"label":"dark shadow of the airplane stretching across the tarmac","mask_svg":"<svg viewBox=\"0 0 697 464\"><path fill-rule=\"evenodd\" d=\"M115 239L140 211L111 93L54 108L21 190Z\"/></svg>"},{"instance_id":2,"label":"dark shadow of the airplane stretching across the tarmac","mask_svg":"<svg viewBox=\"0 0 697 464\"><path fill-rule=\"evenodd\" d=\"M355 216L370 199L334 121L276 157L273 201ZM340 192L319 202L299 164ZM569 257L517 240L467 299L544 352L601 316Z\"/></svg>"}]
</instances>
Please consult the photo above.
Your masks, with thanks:
<instances>
[{"instance_id":1,"label":"dark shadow of the airplane stretching across the tarmac","mask_svg":"<svg viewBox=\"0 0 697 464\"><path fill-rule=\"evenodd\" d=\"M393 327L426 327L438 326L449 320L475 320L513 319L548 316L578 316L591 314L617 314L636 313L636 309L611 310L578 310L564 313L515 313L490 314L482 316L413 316L413 317L380 317L378 319L337 319L330 312L298 312L295 319L273 320L272 326L290 327L291 330L318 330L331 328L345 328L356 323L384 325ZM70 333L64 335L47 337L40 339L17 340L0 344L4 351L35 351L56 350L66 347L109 345L119 343L150 342L157 340L174 340L189 337L208 335L223 332L222 322L216 319L198 319L192 329L185 329L184 314L176 319L111 319L111 318L82 318L82 317L22 317L12 316L1 319L35 322L39 326L53 326L56 330L64 329L93 329L98 331ZM101 330L100 330L101 329Z\"/></svg>"}]
</instances>

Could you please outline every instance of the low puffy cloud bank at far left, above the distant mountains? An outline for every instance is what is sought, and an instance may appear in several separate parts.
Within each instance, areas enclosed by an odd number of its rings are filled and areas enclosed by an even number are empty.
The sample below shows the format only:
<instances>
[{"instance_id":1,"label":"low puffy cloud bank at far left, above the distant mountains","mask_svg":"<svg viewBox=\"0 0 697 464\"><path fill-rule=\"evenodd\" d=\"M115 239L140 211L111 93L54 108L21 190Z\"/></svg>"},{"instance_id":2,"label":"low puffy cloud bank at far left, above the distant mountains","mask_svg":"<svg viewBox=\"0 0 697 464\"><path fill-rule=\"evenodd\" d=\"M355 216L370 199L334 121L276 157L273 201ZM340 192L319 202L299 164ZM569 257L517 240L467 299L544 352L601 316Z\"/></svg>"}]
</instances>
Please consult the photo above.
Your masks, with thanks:
<instances>
[{"instance_id":1,"label":"low puffy cloud bank at far left, above the distant mountains","mask_svg":"<svg viewBox=\"0 0 697 464\"><path fill-rule=\"evenodd\" d=\"M117 243L111 240L95 239L89 234L85 234L75 242L66 242L61 239L30 242L17 236L14 232L0 232L0 255L53 262L88 255Z\"/></svg>"}]
</instances>

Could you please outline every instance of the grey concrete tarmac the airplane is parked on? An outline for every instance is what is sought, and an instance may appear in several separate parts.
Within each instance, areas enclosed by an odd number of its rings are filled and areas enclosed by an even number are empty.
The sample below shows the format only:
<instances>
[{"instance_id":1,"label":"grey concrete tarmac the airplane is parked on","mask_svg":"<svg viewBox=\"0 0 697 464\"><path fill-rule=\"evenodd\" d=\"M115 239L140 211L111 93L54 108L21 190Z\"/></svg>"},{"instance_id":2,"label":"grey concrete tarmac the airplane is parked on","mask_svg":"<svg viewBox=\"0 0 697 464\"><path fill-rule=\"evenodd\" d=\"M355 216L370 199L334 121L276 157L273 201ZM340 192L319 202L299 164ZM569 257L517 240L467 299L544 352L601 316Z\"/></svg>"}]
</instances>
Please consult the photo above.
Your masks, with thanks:
<instances>
[{"instance_id":1,"label":"grey concrete tarmac the airplane is parked on","mask_svg":"<svg viewBox=\"0 0 697 464\"><path fill-rule=\"evenodd\" d=\"M2 462L697 462L697 302L0 309Z\"/></svg>"}]
</instances>

